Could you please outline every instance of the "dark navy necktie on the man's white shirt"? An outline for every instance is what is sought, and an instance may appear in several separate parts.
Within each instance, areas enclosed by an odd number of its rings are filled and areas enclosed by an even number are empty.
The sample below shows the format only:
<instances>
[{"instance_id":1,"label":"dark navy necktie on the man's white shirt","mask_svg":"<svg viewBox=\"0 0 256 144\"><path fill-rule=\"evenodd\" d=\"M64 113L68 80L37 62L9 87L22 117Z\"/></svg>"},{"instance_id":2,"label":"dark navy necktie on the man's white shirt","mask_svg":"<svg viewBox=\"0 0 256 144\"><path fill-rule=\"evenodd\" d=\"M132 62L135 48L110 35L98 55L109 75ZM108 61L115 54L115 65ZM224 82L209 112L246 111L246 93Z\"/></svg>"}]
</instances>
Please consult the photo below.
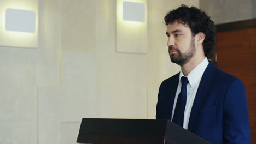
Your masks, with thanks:
<instances>
[{"instance_id":1,"label":"dark navy necktie on the man's white shirt","mask_svg":"<svg viewBox=\"0 0 256 144\"><path fill-rule=\"evenodd\" d=\"M187 77L182 76L181 82L182 82L181 93L179 93L179 95L178 95L172 122L183 127L184 111L185 111L185 106L187 103L187 84L189 81L188 81Z\"/></svg>"}]
</instances>

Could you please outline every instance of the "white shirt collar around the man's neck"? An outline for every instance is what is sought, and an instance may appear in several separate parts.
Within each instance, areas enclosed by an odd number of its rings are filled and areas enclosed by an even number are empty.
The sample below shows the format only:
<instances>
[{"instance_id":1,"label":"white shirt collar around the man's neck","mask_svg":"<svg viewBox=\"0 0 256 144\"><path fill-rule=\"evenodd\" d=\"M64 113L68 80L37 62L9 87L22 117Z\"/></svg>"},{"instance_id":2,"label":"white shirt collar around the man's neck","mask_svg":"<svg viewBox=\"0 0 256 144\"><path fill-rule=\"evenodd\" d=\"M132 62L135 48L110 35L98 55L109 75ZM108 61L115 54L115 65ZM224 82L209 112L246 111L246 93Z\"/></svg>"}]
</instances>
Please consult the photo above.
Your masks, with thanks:
<instances>
[{"instance_id":1,"label":"white shirt collar around the man's neck","mask_svg":"<svg viewBox=\"0 0 256 144\"><path fill-rule=\"evenodd\" d=\"M203 61L199 65L197 65L192 71L190 71L187 77L191 87L194 87L195 84L199 80L201 80L201 77L205 72L205 69L208 64L209 64L208 59L205 57L205 59L203 59ZM182 76L184 76L184 74L182 73L182 70L181 70L181 72L179 73L179 81L181 81Z\"/></svg>"}]
</instances>

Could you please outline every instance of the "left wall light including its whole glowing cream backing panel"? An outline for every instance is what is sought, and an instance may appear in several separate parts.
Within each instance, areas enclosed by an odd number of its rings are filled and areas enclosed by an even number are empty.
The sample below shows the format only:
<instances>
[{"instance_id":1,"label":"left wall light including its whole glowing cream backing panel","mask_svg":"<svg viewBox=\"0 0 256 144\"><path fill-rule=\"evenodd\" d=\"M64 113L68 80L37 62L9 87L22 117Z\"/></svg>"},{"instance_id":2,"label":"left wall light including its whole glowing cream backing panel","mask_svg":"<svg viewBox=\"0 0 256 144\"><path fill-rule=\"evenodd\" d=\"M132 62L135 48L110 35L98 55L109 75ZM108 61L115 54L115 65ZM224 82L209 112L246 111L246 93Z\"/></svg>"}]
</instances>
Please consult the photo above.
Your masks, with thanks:
<instances>
[{"instance_id":1,"label":"left wall light including its whole glowing cream backing panel","mask_svg":"<svg viewBox=\"0 0 256 144\"><path fill-rule=\"evenodd\" d=\"M0 0L0 47L38 47L38 0Z\"/></svg>"}]
</instances>

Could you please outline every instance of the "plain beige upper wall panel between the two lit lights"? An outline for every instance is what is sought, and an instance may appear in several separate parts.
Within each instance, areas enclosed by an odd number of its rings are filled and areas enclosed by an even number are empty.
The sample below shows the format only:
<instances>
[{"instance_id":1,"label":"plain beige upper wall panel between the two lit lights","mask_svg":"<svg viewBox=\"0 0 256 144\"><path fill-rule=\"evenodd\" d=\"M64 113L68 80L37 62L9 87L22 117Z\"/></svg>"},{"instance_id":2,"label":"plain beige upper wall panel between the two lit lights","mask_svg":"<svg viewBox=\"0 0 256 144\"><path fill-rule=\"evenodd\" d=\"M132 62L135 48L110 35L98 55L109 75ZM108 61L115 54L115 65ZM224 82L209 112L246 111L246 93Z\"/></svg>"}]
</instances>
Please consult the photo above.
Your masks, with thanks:
<instances>
[{"instance_id":1,"label":"plain beige upper wall panel between the two lit lights","mask_svg":"<svg viewBox=\"0 0 256 144\"><path fill-rule=\"evenodd\" d=\"M61 2L61 48L93 51L95 49L95 1L61 0Z\"/></svg>"}]
</instances>

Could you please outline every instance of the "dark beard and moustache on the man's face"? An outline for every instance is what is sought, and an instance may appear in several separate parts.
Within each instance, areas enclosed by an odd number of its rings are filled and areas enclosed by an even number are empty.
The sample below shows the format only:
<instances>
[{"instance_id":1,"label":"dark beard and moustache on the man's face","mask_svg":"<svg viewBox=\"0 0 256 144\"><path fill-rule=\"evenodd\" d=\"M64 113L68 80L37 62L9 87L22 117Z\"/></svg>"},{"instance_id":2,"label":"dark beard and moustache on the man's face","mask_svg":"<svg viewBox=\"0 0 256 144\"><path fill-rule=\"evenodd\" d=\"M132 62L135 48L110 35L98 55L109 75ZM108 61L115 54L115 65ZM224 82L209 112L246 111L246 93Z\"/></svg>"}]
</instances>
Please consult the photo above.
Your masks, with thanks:
<instances>
[{"instance_id":1,"label":"dark beard and moustache on the man's face","mask_svg":"<svg viewBox=\"0 0 256 144\"><path fill-rule=\"evenodd\" d=\"M172 53L172 54L169 54L169 55L170 55L171 61L173 63L176 63L176 64L178 64L182 67L183 65L187 64L190 61L190 59L192 57L194 57L194 55L195 55L195 52L196 52L195 38L192 37L192 39L190 40L189 49L184 53L181 53L179 51L179 49L174 48L174 47L169 47L169 50L176 50L177 51L177 53Z\"/></svg>"}]
</instances>

